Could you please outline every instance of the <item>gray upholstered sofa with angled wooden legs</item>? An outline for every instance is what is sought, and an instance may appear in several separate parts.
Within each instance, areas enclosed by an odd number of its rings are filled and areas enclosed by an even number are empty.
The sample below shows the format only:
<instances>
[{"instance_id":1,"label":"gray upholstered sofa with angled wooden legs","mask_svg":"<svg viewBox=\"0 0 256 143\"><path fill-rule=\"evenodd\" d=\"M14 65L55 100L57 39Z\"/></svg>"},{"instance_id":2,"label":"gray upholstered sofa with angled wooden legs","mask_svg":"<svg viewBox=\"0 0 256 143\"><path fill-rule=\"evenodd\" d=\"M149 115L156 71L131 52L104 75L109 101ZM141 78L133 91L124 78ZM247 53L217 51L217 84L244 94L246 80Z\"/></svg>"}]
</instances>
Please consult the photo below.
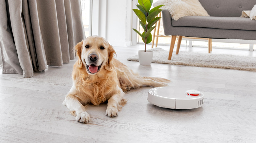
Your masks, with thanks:
<instances>
[{"instance_id":1,"label":"gray upholstered sofa with angled wooden legs","mask_svg":"<svg viewBox=\"0 0 256 143\"><path fill-rule=\"evenodd\" d=\"M172 35L171 60L176 37L256 40L256 20L241 18L243 10L251 10L256 0L199 0L210 16L186 16L175 21L168 10L162 10L164 35Z\"/></svg>"}]
</instances>

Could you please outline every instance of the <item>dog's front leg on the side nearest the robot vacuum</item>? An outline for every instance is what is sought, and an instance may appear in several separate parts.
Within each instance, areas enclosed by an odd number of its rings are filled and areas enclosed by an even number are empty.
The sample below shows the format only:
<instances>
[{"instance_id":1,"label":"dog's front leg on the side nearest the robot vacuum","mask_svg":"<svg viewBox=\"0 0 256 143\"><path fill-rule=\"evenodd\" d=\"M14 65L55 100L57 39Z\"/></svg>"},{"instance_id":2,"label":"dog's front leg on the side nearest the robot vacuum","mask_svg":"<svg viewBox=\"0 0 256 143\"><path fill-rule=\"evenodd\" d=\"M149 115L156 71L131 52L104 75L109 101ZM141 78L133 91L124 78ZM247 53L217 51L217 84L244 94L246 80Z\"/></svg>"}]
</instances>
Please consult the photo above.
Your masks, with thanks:
<instances>
[{"instance_id":1,"label":"dog's front leg on the side nearest the robot vacuum","mask_svg":"<svg viewBox=\"0 0 256 143\"><path fill-rule=\"evenodd\" d=\"M105 114L108 117L117 117L118 107L120 107L120 103L124 97L124 92L120 87L117 86L116 91L108 100L108 107Z\"/></svg>"}]
</instances>

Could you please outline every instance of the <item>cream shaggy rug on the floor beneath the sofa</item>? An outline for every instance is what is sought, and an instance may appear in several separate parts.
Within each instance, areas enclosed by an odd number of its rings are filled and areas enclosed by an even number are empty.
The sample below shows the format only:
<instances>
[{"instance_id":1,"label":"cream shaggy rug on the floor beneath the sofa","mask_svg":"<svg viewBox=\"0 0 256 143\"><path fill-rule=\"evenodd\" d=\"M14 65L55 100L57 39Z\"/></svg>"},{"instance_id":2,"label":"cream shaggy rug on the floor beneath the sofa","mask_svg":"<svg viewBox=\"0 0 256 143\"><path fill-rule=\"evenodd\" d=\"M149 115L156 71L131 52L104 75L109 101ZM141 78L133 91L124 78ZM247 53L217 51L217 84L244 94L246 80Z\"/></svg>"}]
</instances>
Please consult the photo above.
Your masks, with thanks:
<instances>
[{"instance_id":1,"label":"cream shaggy rug on the floor beneath the sofa","mask_svg":"<svg viewBox=\"0 0 256 143\"><path fill-rule=\"evenodd\" d=\"M179 55L173 53L172 59L168 60L169 51L161 48L150 50L154 51L152 63L256 71L256 57L180 51ZM127 60L139 61L139 58L135 55Z\"/></svg>"}]
</instances>

